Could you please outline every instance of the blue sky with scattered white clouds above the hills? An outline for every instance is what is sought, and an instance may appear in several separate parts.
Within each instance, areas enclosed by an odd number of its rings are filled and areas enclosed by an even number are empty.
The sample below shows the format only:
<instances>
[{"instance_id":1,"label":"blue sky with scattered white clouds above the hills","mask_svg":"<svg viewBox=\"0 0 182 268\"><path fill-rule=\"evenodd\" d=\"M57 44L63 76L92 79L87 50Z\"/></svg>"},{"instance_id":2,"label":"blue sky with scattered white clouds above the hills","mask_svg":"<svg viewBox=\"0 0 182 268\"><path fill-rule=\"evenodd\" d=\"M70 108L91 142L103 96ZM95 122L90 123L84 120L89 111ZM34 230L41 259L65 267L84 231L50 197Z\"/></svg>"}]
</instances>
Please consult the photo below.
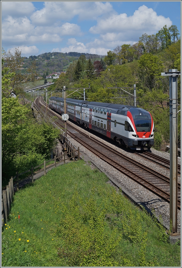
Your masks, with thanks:
<instances>
[{"instance_id":1,"label":"blue sky with scattered white clouds above the hills","mask_svg":"<svg viewBox=\"0 0 182 268\"><path fill-rule=\"evenodd\" d=\"M181 28L181 1L1 1L1 42L21 55L107 55L164 25Z\"/></svg>"}]
</instances>

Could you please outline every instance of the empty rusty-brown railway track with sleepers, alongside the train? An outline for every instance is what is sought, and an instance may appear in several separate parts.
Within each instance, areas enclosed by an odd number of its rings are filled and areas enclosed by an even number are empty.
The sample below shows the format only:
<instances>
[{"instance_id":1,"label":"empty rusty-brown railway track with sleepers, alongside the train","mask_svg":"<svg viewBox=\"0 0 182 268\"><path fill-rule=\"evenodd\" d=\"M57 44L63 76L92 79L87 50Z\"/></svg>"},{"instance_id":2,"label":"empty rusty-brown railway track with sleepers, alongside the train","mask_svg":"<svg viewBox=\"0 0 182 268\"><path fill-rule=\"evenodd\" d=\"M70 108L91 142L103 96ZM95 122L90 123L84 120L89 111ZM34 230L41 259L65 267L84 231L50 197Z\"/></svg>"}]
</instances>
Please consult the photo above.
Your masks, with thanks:
<instances>
[{"instance_id":1,"label":"empty rusty-brown railway track with sleepers, alongside the train","mask_svg":"<svg viewBox=\"0 0 182 268\"><path fill-rule=\"evenodd\" d=\"M45 104L42 103L42 105L44 106ZM48 114L51 113L52 111L48 110ZM64 123L61 119L58 119L56 123L64 128ZM67 133L69 133L69 135L77 142L81 143L88 150L97 155L100 159L169 203L170 181L168 177L150 169L130 157L127 157L104 143L95 140L89 135L82 133L77 128L69 125L69 123L67 124ZM178 183L178 209L180 209L180 190L181 185Z\"/></svg>"}]
</instances>

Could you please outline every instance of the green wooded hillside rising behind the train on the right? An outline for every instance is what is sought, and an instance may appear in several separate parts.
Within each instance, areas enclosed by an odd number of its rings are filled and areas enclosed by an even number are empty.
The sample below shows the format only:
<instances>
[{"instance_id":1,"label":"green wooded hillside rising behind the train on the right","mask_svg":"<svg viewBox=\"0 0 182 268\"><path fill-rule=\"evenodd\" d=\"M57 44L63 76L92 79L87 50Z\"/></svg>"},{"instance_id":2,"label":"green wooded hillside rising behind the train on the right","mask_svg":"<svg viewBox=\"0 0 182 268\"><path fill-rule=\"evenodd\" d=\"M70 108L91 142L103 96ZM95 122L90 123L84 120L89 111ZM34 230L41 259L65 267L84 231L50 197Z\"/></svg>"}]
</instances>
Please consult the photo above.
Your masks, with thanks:
<instances>
[{"instance_id":1,"label":"green wooded hillside rising behind the train on the right","mask_svg":"<svg viewBox=\"0 0 182 268\"><path fill-rule=\"evenodd\" d=\"M117 46L100 61L81 55L49 90L62 90L63 85L88 88L90 83L90 88L85 90L87 100L133 105L133 97L118 87L131 87L128 91L132 94L136 84L137 107L149 111L154 120L154 147L165 151L169 144L169 77L161 76L161 72L169 69L180 71L180 39L176 25L169 28L165 25L156 35L144 33L137 43ZM76 92L72 98L82 99L83 96ZM180 77L178 104L180 110ZM180 115L179 112L179 147Z\"/></svg>"}]
</instances>

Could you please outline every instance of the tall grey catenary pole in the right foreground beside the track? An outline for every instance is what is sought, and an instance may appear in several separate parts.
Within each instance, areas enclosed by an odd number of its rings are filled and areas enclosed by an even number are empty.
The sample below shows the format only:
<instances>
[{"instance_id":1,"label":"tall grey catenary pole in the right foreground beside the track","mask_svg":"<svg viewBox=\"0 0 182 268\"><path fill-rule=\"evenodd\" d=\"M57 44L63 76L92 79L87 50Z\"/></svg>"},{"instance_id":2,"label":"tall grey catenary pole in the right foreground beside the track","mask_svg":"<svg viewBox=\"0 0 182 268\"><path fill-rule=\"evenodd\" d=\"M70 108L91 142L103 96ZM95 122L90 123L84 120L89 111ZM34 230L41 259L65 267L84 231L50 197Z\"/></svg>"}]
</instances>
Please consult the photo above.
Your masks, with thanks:
<instances>
[{"instance_id":1,"label":"tall grey catenary pole in the right foreground beside the track","mask_svg":"<svg viewBox=\"0 0 182 268\"><path fill-rule=\"evenodd\" d=\"M169 72L177 72L170 69ZM169 76L170 118L170 228L177 233L177 75Z\"/></svg>"}]
</instances>

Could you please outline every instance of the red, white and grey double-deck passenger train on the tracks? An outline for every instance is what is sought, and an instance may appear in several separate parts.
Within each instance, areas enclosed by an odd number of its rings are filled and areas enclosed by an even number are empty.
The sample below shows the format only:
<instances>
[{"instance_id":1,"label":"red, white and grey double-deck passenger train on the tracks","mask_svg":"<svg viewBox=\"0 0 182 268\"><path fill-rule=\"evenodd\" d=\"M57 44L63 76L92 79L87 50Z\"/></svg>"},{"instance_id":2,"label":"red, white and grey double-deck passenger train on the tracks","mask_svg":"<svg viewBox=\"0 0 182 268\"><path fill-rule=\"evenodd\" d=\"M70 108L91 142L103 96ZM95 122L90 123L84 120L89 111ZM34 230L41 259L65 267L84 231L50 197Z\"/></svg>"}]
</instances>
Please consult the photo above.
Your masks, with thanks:
<instances>
[{"instance_id":1,"label":"red, white and grey double-deck passenger train on the tracks","mask_svg":"<svg viewBox=\"0 0 182 268\"><path fill-rule=\"evenodd\" d=\"M64 98L50 97L49 107L64 114ZM148 150L154 145L154 122L144 109L67 98L66 113L78 124L132 150Z\"/></svg>"}]
</instances>

